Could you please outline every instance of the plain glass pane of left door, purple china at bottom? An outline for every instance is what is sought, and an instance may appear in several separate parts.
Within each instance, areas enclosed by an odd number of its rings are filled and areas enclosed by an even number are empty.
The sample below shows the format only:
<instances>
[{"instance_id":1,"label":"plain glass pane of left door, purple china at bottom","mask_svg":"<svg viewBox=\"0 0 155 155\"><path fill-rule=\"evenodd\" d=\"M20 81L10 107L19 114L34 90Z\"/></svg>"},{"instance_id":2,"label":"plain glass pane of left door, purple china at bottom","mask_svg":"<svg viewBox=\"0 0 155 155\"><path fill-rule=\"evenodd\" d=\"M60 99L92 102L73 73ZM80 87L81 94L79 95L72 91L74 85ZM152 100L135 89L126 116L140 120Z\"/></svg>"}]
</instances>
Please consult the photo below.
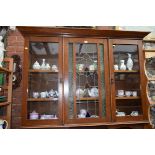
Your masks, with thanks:
<instances>
[{"instance_id":1,"label":"plain glass pane of left door, purple china at bottom","mask_svg":"<svg viewBox=\"0 0 155 155\"><path fill-rule=\"evenodd\" d=\"M28 119L46 120L59 117L58 48L59 43L30 43Z\"/></svg>"}]
</instances>

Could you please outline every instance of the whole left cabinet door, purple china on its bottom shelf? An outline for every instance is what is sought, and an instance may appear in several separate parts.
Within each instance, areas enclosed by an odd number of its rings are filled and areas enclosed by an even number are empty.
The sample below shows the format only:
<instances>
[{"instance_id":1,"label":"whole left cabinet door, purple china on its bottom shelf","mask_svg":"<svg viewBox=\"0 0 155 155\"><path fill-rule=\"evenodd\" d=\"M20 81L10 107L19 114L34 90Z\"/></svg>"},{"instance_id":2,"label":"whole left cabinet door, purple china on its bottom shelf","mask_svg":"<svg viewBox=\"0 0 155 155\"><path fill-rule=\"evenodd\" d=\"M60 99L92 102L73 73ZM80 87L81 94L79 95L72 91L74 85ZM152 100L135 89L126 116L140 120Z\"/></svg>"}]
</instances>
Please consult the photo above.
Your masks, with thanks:
<instances>
[{"instance_id":1,"label":"whole left cabinet door, purple china on its bottom shelf","mask_svg":"<svg viewBox=\"0 0 155 155\"><path fill-rule=\"evenodd\" d=\"M62 124L62 39L26 38L22 126Z\"/></svg>"}]
</instances>

